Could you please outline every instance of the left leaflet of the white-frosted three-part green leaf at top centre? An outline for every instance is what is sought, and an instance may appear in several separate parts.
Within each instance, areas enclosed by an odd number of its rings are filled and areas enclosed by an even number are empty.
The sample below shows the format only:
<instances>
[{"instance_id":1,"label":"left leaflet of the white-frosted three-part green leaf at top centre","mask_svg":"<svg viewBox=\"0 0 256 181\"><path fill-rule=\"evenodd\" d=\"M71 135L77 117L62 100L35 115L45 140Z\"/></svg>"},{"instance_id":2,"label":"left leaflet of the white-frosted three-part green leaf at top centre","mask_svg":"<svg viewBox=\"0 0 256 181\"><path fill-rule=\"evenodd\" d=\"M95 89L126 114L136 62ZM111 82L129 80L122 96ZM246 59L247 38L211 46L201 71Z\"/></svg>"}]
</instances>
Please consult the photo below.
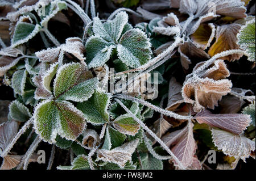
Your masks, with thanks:
<instances>
[{"instance_id":1,"label":"left leaflet of the white-frosted three-part green leaf at top centre","mask_svg":"<svg viewBox=\"0 0 256 181\"><path fill-rule=\"evenodd\" d=\"M91 36L85 44L86 47L86 63L89 68L102 66L110 58L113 48L112 43L102 39L100 36Z\"/></svg>"}]
</instances>

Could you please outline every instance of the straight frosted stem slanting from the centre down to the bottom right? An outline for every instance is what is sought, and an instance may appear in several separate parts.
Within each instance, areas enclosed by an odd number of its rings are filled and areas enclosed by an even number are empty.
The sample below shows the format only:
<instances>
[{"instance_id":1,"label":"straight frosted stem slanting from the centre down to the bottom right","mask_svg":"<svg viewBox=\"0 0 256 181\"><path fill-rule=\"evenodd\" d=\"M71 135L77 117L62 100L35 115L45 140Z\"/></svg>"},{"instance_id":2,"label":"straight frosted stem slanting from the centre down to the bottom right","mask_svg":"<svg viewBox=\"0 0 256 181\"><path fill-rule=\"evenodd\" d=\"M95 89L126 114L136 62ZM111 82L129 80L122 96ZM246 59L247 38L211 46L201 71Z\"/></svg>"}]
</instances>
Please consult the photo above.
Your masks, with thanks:
<instances>
[{"instance_id":1,"label":"straight frosted stem slanting from the centre down to the bottom right","mask_svg":"<svg viewBox=\"0 0 256 181\"><path fill-rule=\"evenodd\" d=\"M153 138L155 138L155 140L156 140L157 142L159 142L159 144L162 146L162 148L165 149L165 150L172 156L172 158L177 162L177 164L179 165L179 168L180 168L180 169L185 170L185 167L183 166L183 164L179 161L179 159L177 159L177 157L174 155L174 153L172 153L172 151L170 150L170 148L168 148L168 146L166 146L166 144L164 144L164 142L163 142L158 136L156 136L155 133L151 131L151 129L149 129L141 120L139 120L138 117L135 116L119 99L115 99L115 101L117 101L117 102L120 104L120 106L121 106L123 109L125 109L125 111L126 111L127 113L129 113L129 115L130 115L131 117L133 117L133 119L134 119L135 121L137 121L137 122L139 123L139 125L141 125L141 127L142 127L144 130L146 130L146 132L147 132L148 134L150 134L150 136L152 136Z\"/></svg>"}]
</instances>

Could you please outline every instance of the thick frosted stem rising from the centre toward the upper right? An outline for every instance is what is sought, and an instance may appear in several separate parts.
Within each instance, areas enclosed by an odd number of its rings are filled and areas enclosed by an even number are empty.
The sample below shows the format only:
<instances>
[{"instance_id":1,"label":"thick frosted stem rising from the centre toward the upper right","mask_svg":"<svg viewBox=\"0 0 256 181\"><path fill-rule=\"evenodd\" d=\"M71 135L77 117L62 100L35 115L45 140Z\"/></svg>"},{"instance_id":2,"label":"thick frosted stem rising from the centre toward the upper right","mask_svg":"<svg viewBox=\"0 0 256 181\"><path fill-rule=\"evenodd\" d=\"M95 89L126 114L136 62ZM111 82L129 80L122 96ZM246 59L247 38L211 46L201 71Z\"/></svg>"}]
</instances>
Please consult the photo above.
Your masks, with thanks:
<instances>
[{"instance_id":1,"label":"thick frosted stem rising from the centre toward the upper right","mask_svg":"<svg viewBox=\"0 0 256 181\"><path fill-rule=\"evenodd\" d=\"M126 73L129 73L129 72L141 71L141 70L146 70L146 69L150 68L152 65L155 65L157 62L159 62L160 60L165 58L168 54L172 53L172 51L179 45L179 43L181 41L183 41L183 39L181 39L180 37L176 37L174 43L171 44L170 47L168 47L166 50L164 50L162 53L160 53L157 57L152 58L146 64L144 64L142 66L139 66L136 69L121 71L121 72L117 73L116 75L122 75L122 74L126 74Z\"/></svg>"}]
</instances>

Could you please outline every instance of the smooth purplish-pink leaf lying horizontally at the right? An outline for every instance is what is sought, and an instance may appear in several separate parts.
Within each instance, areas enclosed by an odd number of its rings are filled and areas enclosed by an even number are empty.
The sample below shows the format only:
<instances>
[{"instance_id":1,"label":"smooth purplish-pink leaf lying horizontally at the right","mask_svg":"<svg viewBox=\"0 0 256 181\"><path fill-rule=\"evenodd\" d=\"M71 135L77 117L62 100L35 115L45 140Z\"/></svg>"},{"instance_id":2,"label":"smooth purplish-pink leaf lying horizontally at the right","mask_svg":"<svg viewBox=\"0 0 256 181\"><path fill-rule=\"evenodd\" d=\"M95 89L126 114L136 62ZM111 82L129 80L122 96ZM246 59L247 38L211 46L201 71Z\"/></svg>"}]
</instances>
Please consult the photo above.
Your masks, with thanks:
<instances>
[{"instance_id":1,"label":"smooth purplish-pink leaf lying horizontally at the right","mask_svg":"<svg viewBox=\"0 0 256 181\"><path fill-rule=\"evenodd\" d=\"M211 127L221 128L234 134L242 134L250 125L249 115L238 113L213 114L208 110L197 113L195 119L198 123L206 123Z\"/></svg>"}]
</instances>

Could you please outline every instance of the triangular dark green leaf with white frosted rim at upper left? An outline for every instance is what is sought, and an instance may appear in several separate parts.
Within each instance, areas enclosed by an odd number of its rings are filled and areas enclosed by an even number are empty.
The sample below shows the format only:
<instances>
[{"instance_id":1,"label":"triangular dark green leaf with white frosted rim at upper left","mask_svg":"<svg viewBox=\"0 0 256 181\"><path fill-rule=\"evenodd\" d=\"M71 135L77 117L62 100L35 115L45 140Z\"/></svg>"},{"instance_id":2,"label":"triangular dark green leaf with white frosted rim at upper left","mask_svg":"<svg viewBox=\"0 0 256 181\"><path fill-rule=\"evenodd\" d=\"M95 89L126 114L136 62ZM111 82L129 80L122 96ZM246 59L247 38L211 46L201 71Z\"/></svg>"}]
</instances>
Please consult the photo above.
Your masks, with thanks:
<instances>
[{"instance_id":1,"label":"triangular dark green leaf with white frosted rim at upper left","mask_svg":"<svg viewBox=\"0 0 256 181\"><path fill-rule=\"evenodd\" d=\"M18 22L14 30L13 39L11 39L11 47L26 43L40 31L40 28L39 24Z\"/></svg>"}]
</instances>

